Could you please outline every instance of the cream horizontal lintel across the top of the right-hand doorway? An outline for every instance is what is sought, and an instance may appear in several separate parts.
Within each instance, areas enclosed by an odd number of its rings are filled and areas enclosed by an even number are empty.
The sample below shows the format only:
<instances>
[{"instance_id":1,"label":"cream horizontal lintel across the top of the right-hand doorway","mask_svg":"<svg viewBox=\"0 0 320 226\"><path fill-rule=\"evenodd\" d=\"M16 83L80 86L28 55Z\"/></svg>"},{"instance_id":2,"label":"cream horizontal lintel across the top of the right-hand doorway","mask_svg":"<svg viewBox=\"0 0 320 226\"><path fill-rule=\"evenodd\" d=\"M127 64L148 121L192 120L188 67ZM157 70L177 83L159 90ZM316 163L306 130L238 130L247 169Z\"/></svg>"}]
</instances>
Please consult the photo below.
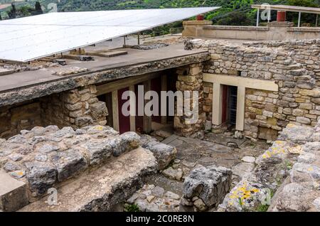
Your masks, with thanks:
<instances>
[{"instance_id":1,"label":"cream horizontal lintel across the top of the right-hand doorway","mask_svg":"<svg viewBox=\"0 0 320 226\"><path fill-rule=\"evenodd\" d=\"M278 85L270 80L257 80L249 77L239 77L232 75L203 74L204 82L212 82L223 85L232 85L256 90L279 91ZM214 95L214 94L213 94Z\"/></svg>"}]
</instances>

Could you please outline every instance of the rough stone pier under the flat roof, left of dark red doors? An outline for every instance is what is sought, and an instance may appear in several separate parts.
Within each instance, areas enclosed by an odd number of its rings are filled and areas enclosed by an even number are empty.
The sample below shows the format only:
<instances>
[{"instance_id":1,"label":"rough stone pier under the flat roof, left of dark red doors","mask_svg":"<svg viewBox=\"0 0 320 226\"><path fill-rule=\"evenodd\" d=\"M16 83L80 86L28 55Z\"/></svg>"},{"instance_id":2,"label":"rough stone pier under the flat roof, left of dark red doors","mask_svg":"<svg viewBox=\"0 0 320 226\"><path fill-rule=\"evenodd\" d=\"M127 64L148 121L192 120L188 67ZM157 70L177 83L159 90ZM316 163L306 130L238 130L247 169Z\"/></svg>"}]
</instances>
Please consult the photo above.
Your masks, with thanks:
<instances>
[{"instance_id":1,"label":"rough stone pier under the flat roof, left of dark red doors","mask_svg":"<svg viewBox=\"0 0 320 226\"><path fill-rule=\"evenodd\" d=\"M91 85L43 97L43 124L74 129L107 124L106 104L97 99L96 92Z\"/></svg>"}]
</instances>

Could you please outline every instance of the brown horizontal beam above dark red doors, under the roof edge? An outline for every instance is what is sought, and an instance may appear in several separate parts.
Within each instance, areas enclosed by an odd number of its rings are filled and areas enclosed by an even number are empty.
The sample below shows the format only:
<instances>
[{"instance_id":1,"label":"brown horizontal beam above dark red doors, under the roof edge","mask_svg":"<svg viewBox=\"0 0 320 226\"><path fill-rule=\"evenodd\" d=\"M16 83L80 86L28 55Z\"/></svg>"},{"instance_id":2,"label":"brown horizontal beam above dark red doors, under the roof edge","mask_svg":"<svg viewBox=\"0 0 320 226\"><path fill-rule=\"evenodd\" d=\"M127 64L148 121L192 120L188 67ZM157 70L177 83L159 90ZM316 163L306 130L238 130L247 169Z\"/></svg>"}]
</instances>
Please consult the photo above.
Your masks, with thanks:
<instances>
[{"instance_id":1,"label":"brown horizontal beam above dark red doors, under the roof edge","mask_svg":"<svg viewBox=\"0 0 320 226\"><path fill-rule=\"evenodd\" d=\"M156 77L159 77L160 75L161 75L161 72L155 72L155 73L146 74L146 75L127 77L127 78L109 82L103 85L98 85L97 96L104 95L108 92L113 92L114 90L121 90L123 88L129 87L130 85L136 85L146 80L154 79Z\"/></svg>"}]
</instances>

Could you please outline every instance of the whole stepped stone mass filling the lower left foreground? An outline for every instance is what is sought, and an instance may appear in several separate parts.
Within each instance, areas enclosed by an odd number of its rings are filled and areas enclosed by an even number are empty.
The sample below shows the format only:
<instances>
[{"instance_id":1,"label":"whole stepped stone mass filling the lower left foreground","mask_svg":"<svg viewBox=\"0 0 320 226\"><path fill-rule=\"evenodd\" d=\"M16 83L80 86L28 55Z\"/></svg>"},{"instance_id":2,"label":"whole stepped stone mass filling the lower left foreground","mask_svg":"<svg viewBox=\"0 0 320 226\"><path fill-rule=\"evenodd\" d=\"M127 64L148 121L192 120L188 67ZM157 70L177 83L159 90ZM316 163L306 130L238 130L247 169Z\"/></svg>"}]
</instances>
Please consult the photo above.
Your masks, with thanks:
<instances>
[{"instance_id":1,"label":"whole stepped stone mass filling the lower left foreground","mask_svg":"<svg viewBox=\"0 0 320 226\"><path fill-rule=\"evenodd\" d=\"M111 127L21 131L0 140L0 210L119 210L175 156L171 146Z\"/></svg>"}]
</instances>

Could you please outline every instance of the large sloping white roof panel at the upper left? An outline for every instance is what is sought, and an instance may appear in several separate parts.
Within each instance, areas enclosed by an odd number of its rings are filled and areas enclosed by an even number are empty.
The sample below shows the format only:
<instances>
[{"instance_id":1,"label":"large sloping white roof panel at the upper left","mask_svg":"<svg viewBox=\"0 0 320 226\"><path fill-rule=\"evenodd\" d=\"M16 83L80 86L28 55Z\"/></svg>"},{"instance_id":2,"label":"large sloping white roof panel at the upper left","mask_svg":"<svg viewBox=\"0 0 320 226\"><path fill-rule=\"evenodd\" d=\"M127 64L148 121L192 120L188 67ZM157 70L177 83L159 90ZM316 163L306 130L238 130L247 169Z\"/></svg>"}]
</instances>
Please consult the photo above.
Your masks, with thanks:
<instances>
[{"instance_id":1,"label":"large sloping white roof panel at the upper left","mask_svg":"<svg viewBox=\"0 0 320 226\"><path fill-rule=\"evenodd\" d=\"M219 8L63 12L0 21L0 59L35 60Z\"/></svg>"}]
</instances>

